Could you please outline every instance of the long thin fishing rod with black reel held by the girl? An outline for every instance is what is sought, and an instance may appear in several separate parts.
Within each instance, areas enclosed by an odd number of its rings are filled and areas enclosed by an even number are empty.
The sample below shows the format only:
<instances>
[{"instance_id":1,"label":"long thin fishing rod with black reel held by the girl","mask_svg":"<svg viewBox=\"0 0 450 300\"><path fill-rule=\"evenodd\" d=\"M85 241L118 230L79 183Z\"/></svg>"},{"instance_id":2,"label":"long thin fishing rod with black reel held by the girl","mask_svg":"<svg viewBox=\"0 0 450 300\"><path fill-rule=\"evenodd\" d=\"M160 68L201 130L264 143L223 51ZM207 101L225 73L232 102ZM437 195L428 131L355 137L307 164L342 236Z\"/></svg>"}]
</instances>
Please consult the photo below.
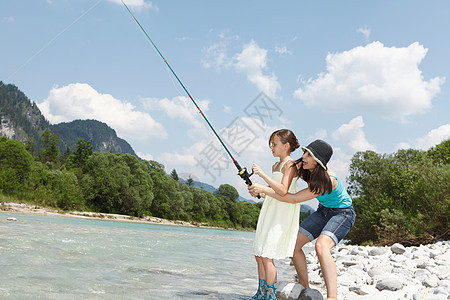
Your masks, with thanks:
<instances>
[{"instance_id":1,"label":"long thin fishing rod with black reel held by the girl","mask_svg":"<svg viewBox=\"0 0 450 300\"><path fill-rule=\"evenodd\" d=\"M216 130L214 130L214 127L212 127L211 123L208 121L208 119L206 118L205 114L202 112L202 110L200 109L200 107L197 105L197 103L195 102L194 98L192 98L191 94L188 92L188 90L186 89L186 87L184 86L184 84L181 82L180 78L178 78L177 74L175 73L175 71L172 69L172 67L169 65L169 63L167 62L167 60L164 58L164 56L162 55L161 51L159 51L158 47L156 47L155 43L153 42L153 40L150 38L150 36L147 34L147 32L145 31L145 29L141 26L141 24L139 23L139 21L136 19L136 17L133 15L133 13L131 12L131 10L128 8L128 6L125 4L125 2L123 0L120 0L122 2L122 4L125 6L125 8L127 9L127 11L130 13L130 15L133 17L133 19L136 21L136 24L139 26L139 28L141 28L142 32L145 34L145 36L147 37L147 39L150 41L150 43L152 44L153 48L155 48L156 52L158 52L159 56L161 56L161 58L163 59L163 61L166 63L166 66L169 68L169 70L172 72L173 76L175 76L175 78L177 79L178 83L181 85L181 87L184 89L184 91L186 92L186 94L189 96L189 99L191 99L192 103L194 103L195 107L197 107L198 112L202 115L203 119L206 121L206 123L208 124L209 128L211 128L212 132L214 133L214 135L217 137L217 139L219 140L219 142L222 144L222 146L225 148L225 151L228 153L228 155L230 156L231 160L233 161L234 165L236 166L236 168L238 169L238 175L245 181L245 183L247 185L252 185L252 181L250 180L250 176L253 175L253 170L251 173L248 173L247 168L242 168L241 165L239 165L239 163L237 162L237 160L233 157L233 155L231 155L231 152L228 150L227 146L224 144L224 142L222 141L222 139L220 138L220 136L217 134ZM258 198L261 198L258 195Z\"/></svg>"}]
</instances>

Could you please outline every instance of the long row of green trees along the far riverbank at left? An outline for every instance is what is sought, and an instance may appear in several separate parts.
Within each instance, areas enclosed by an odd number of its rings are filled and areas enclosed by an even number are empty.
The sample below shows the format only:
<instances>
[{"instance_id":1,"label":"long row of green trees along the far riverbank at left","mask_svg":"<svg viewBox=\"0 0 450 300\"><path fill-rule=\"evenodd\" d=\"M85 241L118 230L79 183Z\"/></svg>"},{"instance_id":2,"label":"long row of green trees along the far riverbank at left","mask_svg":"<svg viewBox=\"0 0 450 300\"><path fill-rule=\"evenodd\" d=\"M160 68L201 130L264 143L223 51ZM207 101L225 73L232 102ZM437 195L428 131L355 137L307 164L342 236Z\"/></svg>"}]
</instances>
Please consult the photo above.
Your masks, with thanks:
<instances>
[{"instance_id":1,"label":"long row of green trees along the far riverbank at left","mask_svg":"<svg viewBox=\"0 0 450 300\"><path fill-rule=\"evenodd\" d=\"M42 134L39 154L32 153L31 143L0 137L1 194L62 210L256 228L261 204L238 202L231 185L221 185L214 193L188 186L156 161L95 152L84 139L78 140L75 151L60 154L58 137L49 131Z\"/></svg>"}]
</instances>

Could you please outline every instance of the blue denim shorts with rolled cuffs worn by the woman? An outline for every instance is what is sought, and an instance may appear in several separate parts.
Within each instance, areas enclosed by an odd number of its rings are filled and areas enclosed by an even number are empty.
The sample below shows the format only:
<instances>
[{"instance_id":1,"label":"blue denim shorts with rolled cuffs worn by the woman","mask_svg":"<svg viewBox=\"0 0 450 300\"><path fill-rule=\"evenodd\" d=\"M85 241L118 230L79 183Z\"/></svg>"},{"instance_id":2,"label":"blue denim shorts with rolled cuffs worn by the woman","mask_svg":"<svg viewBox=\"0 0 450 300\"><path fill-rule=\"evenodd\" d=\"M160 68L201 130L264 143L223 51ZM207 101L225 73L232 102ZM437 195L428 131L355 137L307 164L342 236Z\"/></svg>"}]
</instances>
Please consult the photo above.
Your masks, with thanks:
<instances>
[{"instance_id":1,"label":"blue denim shorts with rolled cuffs worn by the woman","mask_svg":"<svg viewBox=\"0 0 450 300\"><path fill-rule=\"evenodd\" d=\"M319 204L317 211L300 224L298 231L311 241L318 238L320 234L325 234L337 245L352 228L355 217L353 206L329 208Z\"/></svg>"}]
</instances>

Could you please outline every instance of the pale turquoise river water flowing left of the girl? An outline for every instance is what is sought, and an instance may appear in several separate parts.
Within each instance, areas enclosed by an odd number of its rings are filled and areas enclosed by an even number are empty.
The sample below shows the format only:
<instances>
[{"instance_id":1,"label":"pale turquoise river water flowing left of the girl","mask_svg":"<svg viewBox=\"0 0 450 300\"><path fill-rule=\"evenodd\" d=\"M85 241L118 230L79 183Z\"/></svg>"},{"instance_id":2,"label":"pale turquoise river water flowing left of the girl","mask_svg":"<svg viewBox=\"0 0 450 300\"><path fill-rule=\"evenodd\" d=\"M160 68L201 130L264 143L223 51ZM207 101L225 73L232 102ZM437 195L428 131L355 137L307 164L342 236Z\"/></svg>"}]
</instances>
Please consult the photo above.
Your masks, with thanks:
<instances>
[{"instance_id":1,"label":"pale turquoise river water flowing left of the girl","mask_svg":"<svg viewBox=\"0 0 450 300\"><path fill-rule=\"evenodd\" d=\"M249 299L257 285L253 238L254 232L0 213L0 298ZM279 279L292 279L288 260L276 264Z\"/></svg>"}]
</instances>

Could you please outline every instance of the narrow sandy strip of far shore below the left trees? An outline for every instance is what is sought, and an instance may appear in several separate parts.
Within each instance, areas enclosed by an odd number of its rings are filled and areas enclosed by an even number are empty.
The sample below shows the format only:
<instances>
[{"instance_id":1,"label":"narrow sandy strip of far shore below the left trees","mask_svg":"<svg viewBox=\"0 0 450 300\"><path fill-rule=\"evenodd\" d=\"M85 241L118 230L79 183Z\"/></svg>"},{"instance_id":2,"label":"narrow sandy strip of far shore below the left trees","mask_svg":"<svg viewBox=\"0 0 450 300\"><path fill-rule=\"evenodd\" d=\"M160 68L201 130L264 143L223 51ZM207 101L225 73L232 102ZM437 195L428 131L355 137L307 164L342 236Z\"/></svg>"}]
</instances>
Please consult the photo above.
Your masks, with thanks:
<instances>
[{"instance_id":1,"label":"narrow sandy strip of far shore below the left trees","mask_svg":"<svg viewBox=\"0 0 450 300\"><path fill-rule=\"evenodd\" d=\"M0 211L16 214L33 214L39 216L59 216L59 217L71 217L80 219L92 219L92 220L108 220L118 222L135 222L135 223L148 223L148 224L160 224L160 225L175 225L175 226L188 226L188 227L204 227L204 228L216 228L207 226L201 223L190 223L185 221L172 221L157 217L144 217L137 218L128 215L120 214L105 214L97 212L80 212L80 211L60 211L54 208L41 207L37 205L31 205L27 203L14 203L14 202L0 202Z\"/></svg>"}]
</instances>

